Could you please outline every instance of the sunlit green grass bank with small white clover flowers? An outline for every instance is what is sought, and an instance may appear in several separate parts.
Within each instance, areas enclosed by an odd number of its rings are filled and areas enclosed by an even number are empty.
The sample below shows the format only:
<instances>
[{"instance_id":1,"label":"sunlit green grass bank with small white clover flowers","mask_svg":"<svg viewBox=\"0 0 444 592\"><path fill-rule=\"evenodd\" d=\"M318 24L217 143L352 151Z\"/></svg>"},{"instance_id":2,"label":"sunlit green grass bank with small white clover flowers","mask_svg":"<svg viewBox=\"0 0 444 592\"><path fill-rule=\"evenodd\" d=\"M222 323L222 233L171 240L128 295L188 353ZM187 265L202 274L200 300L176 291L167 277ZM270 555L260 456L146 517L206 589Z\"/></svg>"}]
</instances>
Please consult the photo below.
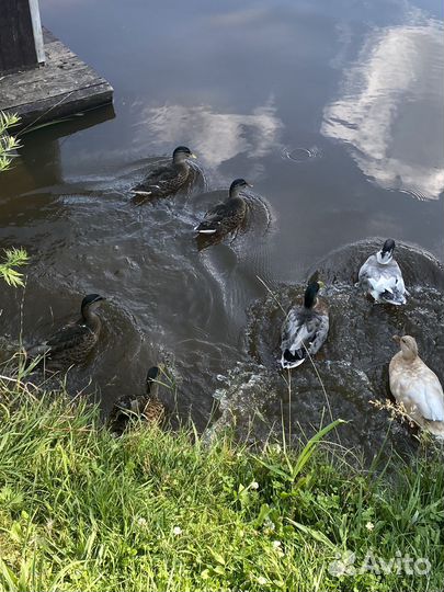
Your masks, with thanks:
<instances>
[{"instance_id":1,"label":"sunlit green grass bank with small white clover flowers","mask_svg":"<svg viewBox=\"0 0 444 592\"><path fill-rule=\"evenodd\" d=\"M430 451L376 473L321 435L294 452L141 424L115 439L84 402L7 386L2 592L442 590L444 468ZM348 549L357 567L373 550L431 571L330 574Z\"/></svg>"}]
</instances>

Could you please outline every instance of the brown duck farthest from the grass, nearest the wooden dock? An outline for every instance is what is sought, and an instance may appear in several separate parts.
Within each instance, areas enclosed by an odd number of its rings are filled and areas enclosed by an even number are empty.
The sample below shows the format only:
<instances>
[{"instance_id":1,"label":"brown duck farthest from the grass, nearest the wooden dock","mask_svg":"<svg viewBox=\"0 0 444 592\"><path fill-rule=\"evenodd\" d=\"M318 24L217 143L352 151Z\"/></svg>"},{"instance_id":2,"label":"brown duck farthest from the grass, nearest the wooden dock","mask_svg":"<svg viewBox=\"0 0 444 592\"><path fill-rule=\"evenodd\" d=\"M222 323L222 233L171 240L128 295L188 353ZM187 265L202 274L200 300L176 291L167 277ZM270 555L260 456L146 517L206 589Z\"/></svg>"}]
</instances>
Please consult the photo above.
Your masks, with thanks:
<instances>
[{"instance_id":1,"label":"brown duck farthest from the grass, nearest the wooden dock","mask_svg":"<svg viewBox=\"0 0 444 592\"><path fill-rule=\"evenodd\" d=\"M140 197L164 197L178 192L190 177L189 158L196 158L186 146L178 146L172 155L172 161L151 171L141 183L133 189Z\"/></svg>"}]
</instances>

